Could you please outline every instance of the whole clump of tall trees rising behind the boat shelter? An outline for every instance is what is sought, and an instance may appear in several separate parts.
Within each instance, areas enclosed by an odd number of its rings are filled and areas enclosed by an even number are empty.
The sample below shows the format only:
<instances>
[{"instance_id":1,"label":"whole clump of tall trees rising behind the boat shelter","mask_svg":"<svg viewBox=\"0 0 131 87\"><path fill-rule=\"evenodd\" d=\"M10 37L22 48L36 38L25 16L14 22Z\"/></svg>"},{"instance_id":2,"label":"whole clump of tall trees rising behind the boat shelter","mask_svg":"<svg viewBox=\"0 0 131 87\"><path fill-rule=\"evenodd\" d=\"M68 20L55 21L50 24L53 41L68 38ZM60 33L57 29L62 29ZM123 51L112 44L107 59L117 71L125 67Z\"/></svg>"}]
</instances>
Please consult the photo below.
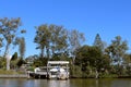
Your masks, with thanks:
<instances>
[{"instance_id":1,"label":"whole clump of tall trees rising behind the boat shelter","mask_svg":"<svg viewBox=\"0 0 131 87\"><path fill-rule=\"evenodd\" d=\"M74 49L85 40L84 35L78 30L68 32L63 26L43 24L36 27L34 42L40 49L40 58L53 58L56 54L64 59L64 55L73 55Z\"/></svg>"}]
</instances>

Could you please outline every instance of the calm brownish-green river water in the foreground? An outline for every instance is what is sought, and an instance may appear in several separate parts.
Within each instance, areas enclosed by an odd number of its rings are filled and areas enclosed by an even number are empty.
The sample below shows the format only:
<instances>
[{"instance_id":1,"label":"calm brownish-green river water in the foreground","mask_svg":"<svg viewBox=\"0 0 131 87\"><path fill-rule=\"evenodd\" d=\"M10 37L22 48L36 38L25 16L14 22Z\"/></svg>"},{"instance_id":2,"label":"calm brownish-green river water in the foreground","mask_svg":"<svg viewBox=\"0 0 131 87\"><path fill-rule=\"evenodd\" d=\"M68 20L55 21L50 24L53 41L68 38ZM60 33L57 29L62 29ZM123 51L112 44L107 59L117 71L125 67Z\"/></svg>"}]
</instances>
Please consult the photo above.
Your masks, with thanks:
<instances>
[{"instance_id":1,"label":"calm brownish-green river water in the foreground","mask_svg":"<svg viewBox=\"0 0 131 87\"><path fill-rule=\"evenodd\" d=\"M131 78L24 79L0 78L0 87L131 87Z\"/></svg>"}]
</instances>

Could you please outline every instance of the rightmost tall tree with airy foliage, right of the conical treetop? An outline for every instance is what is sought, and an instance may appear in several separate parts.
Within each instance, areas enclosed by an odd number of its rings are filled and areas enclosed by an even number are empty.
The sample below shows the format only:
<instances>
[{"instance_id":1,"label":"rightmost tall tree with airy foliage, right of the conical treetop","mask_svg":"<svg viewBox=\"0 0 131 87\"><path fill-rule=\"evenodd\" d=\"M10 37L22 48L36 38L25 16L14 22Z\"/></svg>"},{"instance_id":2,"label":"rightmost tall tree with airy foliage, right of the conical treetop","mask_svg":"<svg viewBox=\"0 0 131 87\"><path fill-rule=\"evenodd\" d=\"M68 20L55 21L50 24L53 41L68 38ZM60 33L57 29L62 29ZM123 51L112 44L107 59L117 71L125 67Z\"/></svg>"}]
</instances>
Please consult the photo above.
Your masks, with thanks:
<instances>
[{"instance_id":1,"label":"rightmost tall tree with airy foliage, right of the conical treetop","mask_svg":"<svg viewBox=\"0 0 131 87\"><path fill-rule=\"evenodd\" d=\"M117 36L115 40L111 40L111 45L106 49L106 52L112 58L114 62L120 64L127 50L127 41L122 40L120 36Z\"/></svg>"}]
</instances>

